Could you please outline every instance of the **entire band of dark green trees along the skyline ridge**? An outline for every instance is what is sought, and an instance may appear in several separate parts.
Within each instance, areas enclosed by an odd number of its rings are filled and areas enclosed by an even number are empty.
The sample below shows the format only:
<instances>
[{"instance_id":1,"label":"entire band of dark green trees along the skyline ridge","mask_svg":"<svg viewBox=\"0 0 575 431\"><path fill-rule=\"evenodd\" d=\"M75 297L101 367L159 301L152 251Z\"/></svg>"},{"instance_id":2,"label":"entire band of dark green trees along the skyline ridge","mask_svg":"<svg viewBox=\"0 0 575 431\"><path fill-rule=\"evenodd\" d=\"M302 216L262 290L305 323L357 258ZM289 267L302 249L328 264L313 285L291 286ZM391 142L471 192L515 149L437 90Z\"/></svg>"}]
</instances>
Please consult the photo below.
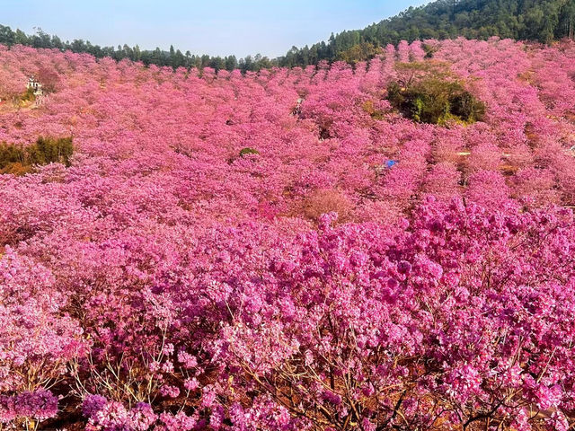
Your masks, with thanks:
<instances>
[{"instance_id":1,"label":"entire band of dark green trees along the skyline ridge","mask_svg":"<svg viewBox=\"0 0 575 431\"><path fill-rule=\"evenodd\" d=\"M171 67L213 67L217 70L257 71L271 66L308 66L320 61L355 63L374 57L379 48L400 40L487 39L491 36L549 43L562 38L575 38L575 0L437 0L367 26L363 30L342 31L327 41L311 47L291 48L283 57L270 59L256 55L237 59L234 56L210 57L182 54L155 48L143 50L128 45L100 47L90 41L62 41L44 31L27 35L0 25L0 44L27 45L34 48L70 49L94 57L129 58L146 65Z\"/></svg>"}]
</instances>

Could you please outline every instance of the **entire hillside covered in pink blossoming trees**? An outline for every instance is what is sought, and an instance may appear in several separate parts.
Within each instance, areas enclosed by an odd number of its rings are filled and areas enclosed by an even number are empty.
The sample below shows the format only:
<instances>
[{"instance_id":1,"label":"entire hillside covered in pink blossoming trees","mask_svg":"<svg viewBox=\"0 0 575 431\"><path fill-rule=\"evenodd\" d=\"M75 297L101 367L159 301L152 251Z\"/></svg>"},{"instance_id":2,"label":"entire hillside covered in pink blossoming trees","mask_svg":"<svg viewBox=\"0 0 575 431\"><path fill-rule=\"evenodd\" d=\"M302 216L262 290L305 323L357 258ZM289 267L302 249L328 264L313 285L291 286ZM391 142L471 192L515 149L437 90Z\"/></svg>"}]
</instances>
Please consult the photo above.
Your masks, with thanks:
<instances>
[{"instance_id":1,"label":"entire hillside covered in pink blossoming trees","mask_svg":"<svg viewBox=\"0 0 575 431\"><path fill-rule=\"evenodd\" d=\"M434 70L480 120L394 109ZM575 421L575 44L246 75L16 46L0 99L2 429Z\"/></svg>"}]
</instances>

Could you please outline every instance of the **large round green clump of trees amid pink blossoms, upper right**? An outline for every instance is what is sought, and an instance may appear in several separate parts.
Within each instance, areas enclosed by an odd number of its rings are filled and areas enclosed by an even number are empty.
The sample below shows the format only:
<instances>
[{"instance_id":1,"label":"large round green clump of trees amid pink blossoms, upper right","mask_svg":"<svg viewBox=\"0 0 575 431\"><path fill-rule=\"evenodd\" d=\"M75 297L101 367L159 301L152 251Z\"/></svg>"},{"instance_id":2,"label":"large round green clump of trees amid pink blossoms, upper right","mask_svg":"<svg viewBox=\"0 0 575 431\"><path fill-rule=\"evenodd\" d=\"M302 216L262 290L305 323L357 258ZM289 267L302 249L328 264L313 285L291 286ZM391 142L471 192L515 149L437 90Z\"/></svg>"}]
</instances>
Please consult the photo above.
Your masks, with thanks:
<instances>
[{"instance_id":1,"label":"large round green clump of trees amid pink blossoms, upper right","mask_svg":"<svg viewBox=\"0 0 575 431\"><path fill-rule=\"evenodd\" d=\"M482 120L485 104L468 92L439 64L400 64L398 81L387 87L387 100L405 117L420 123L445 125L448 121Z\"/></svg>"}]
</instances>

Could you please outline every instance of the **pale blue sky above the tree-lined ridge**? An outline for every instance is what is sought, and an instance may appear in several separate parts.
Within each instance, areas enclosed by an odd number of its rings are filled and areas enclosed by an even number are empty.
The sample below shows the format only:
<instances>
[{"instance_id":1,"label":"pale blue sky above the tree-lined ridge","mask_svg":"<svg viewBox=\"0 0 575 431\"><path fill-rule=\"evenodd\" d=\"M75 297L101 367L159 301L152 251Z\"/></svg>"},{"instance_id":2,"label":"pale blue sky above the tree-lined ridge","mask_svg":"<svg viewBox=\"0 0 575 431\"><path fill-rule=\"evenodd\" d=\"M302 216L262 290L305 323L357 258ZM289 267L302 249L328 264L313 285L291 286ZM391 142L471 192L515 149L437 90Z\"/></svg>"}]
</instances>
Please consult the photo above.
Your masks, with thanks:
<instances>
[{"instance_id":1,"label":"pale blue sky above the tree-lined ridge","mask_svg":"<svg viewBox=\"0 0 575 431\"><path fill-rule=\"evenodd\" d=\"M0 23L62 40L244 57L283 55L425 0L0 0Z\"/></svg>"}]
</instances>

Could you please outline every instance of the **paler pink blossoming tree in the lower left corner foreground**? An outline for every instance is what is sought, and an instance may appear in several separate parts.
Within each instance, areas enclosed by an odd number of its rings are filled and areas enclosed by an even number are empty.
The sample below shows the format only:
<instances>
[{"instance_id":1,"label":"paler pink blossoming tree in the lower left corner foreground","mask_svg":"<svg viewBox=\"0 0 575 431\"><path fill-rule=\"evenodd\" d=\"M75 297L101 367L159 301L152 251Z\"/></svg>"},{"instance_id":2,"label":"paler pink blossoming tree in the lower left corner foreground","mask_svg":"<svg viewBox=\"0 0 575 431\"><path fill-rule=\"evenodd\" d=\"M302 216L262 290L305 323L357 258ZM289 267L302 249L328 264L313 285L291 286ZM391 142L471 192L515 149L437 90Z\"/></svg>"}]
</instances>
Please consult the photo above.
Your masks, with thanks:
<instances>
[{"instance_id":1,"label":"paler pink blossoming tree in the lower left corner foreground","mask_svg":"<svg viewBox=\"0 0 575 431\"><path fill-rule=\"evenodd\" d=\"M0 429L36 429L32 423L57 415L49 387L88 346L61 312L66 295L49 269L10 248L0 255L0 297Z\"/></svg>"}]
</instances>

